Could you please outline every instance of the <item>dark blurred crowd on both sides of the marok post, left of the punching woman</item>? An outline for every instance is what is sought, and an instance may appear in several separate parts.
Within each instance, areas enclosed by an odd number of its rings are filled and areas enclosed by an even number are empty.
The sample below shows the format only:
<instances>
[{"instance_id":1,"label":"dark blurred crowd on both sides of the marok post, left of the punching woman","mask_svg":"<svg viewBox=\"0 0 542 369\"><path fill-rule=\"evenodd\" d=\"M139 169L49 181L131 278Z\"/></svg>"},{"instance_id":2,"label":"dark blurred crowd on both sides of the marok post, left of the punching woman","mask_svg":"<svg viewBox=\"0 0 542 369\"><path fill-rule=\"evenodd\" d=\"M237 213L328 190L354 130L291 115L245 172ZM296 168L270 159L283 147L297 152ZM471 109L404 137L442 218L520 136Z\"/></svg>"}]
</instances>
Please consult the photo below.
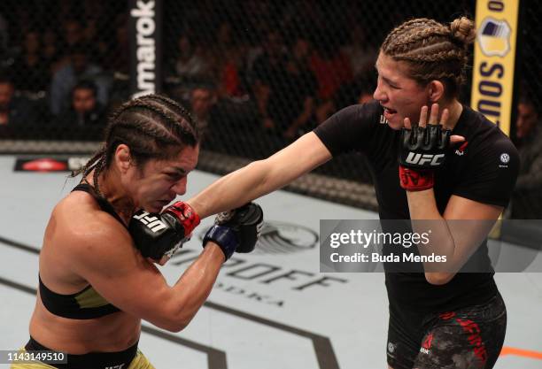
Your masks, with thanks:
<instances>
[{"instance_id":1,"label":"dark blurred crowd on both sides of the marok post, left of the punching woman","mask_svg":"<svg viewBox=\"0 0 542 369\"><path fill-rule=\"evenodd\" d=\"M5 1L0 124L65 133L103 126L129 96L127 4ZM377 41L369 43L359 23L329 23L310 3L280 12L272 2L240 4L237 19L208 1L177 9L182 22L165 14L164 92L188 105L204 130L259 129L292 140L370 99Z\"/></svg>"}]
</instances>

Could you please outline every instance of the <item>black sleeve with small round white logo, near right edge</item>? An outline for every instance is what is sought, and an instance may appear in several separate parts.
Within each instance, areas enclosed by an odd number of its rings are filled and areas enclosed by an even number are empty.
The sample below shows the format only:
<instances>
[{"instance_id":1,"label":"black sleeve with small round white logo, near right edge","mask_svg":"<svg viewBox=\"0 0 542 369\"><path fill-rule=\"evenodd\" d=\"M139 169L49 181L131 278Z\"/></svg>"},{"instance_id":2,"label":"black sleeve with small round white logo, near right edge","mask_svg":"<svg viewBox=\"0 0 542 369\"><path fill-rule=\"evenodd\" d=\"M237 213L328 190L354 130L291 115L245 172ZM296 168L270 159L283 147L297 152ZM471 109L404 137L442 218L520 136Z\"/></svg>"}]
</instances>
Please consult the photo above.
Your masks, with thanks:
<instances>
[{"instance_id":1,"label":"black sleeve with small round white logo, near right edge","mask_svg":"<svg viewBox=\"0 0 542 369\"><path fill-rule=\"evenodd\" d=\"M507 206L520 166L514 144L501 135L496 142L471 154L463 181L453 194L479 203Z\"/></svg>"}]
</instances>

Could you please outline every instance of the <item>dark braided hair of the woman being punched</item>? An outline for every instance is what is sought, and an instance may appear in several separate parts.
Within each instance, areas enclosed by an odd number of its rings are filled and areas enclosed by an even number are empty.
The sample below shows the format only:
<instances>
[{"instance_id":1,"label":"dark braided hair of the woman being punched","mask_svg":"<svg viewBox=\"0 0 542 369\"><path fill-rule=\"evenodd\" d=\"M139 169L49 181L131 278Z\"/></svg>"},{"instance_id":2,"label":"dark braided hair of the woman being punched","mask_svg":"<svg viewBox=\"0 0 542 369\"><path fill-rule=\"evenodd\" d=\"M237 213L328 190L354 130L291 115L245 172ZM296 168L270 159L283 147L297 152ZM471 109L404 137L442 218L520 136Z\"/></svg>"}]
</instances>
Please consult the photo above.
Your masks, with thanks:
<instances>
[{"instance_id":1,"label":"dark braided hair of the woman being punched","mask_svg":"<svg viewBox=\"0 0 542 369\"><path fill-rule=\"evenodd\" d=\"M105 129L104 145L78 171L83 178L94 170L93 186L98 187L98 176L111 165L117 147L124 143L130 156L141 167L150 159L174 158L184 147L197 146L199 132L189 111L174 100L156 94L130 100L113 111Z\"/></svg>"}]
</instances>

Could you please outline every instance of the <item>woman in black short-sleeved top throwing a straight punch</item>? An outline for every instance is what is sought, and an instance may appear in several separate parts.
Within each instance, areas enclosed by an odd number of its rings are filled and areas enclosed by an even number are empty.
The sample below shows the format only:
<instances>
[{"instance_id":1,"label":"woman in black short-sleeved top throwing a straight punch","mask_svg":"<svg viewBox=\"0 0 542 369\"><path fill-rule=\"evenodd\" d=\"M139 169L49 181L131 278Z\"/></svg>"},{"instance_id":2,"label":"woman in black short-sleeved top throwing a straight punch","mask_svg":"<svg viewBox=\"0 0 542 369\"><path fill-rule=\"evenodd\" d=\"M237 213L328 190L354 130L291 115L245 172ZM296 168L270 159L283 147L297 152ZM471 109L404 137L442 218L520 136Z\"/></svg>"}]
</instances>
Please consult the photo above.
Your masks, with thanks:
<instances>
[{"instance_id":1,"label":"woman in black short-sleeved top throwing a straight punch","mask_svg":"<svg viewBox=\"0 0 542 369\"><path fill-rule=\"evenodd\" d=\"M394 369L492 368L504 341L506 309L487 257L491 227L479 226L492 225L507 205L518 156L499 127L458 101L474 38L465 17L449 25L406 21L380 49L376 101L338 111L188 202L205 217L282 188L341 153L366 154L380 218L412 219L413 225L438 220L431 246L449 266L428 270L424 264L424 273L391 273L385 266L387 357ZM460 228L451 219L472 221ZM457 273L478 245L478 272L484 273Z\"/></svg>"}]
</instances>

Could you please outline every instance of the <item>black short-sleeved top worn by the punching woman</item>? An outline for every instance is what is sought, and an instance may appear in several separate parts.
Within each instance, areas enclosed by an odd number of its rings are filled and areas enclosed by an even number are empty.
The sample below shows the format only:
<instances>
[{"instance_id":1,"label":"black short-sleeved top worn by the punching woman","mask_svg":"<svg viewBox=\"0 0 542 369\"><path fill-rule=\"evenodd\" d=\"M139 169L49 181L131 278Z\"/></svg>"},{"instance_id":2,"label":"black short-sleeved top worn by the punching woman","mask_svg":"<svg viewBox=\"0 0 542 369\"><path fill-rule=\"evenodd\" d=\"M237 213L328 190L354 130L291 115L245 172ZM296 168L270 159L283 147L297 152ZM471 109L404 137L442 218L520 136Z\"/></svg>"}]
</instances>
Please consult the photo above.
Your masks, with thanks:
<instances>
[{"instance_id":1,"label":"black short-sleeved top worn by the punching woman","mask_svg":"<svg viewBox=\"0 0 542 369\"><path fill-rule=\"evenodd\" d=\"M410 218L406 191L399 185L400 130L388 127L378 102L338 111L314 133L333 156L354 150L368 157L380 219ZM452 195L506 206L519 170L514 144L499 127L464 105L453 135L464 136L467 143L450 148L444 167L435 174L438 211L445 211ZM485 270L492 271L486 242L475 255L483 258L488 266ZM418 311L446 311L484 304L497 294L493 274L456 273L452 281L436 286L426 281L423 273L386 273L386 288L390 304Z\"/></svg>"}]
</instances>

